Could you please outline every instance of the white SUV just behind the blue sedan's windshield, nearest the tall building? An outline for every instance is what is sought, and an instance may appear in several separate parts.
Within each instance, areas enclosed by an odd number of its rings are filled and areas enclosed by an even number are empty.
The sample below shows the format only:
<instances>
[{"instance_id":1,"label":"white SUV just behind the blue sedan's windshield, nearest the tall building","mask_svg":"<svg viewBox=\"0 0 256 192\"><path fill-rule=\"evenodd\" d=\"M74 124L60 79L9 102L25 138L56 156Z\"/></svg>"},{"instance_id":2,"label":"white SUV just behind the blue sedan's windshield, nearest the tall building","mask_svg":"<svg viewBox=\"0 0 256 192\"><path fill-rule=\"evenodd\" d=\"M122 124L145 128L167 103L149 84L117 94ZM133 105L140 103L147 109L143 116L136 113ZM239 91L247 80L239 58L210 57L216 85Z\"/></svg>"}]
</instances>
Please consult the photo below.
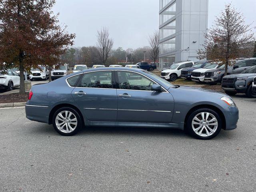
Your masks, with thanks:
<instances>
[{"instance_id":1,"label":"white SUV just behind the blue sedan's windshield, nearest the tall building","mask_svg":"<svg viewBox=\"0 0 256 192\"><path fill-rule=\"evenodd\" d=\"M193 61L180 61L172 64L168 69L163 70L161 72L161 77L170 80L175 81L178 77L180 77L181 70L186 67L191 67L194 65Z\"/></svg>"}]
</instances>

